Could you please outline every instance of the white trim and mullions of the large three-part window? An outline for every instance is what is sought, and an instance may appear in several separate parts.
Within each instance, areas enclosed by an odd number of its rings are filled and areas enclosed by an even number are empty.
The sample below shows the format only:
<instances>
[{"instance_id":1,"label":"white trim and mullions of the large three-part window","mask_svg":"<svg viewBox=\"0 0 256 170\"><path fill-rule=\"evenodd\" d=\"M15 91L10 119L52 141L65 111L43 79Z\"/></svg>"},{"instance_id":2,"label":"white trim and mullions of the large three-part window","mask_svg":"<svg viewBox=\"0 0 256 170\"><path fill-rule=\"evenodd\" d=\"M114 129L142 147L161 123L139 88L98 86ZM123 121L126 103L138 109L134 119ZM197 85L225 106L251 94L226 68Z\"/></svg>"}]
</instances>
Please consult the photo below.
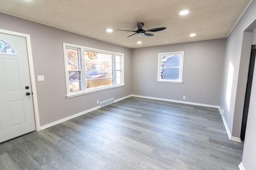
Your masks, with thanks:
<instances>
[{"instance_id":1,"label":"white trim and mullions of the large three-part window","mask_svg":"<svg viewBox=\"0 0 256 170\"><path fill-rule=\"evenodd\" d=\"M71 48L71 49L78 49L80 51L80 57L81 57L81 69L82 69L82 89L81 91L76 91L76 92L70 92L69 89L69 77L68 77L68 69L67 69L67 64L66 64L66 48ZM102 88L96 88L96 89L90 89L90 90L86 90L86 83L84 80L84 57L83 57L83 53L84 51L94 51L94 52L98 52L98 53L107 53L107 54L114 54L114 55L121 55L121 62L122 62L122 84L118 84L116 85L116 78L114 78L115 82L114 85L112 86L106 86L106 87L102 87ZM90 94L90 93L94 93L94 92L100 92L103 90L108 90L108 89L113 89L113 88L119 88L119 87L123 87L124 84L124 54L123 53L117 53L117 52L112 52L112 51L106 51L106 50L101 50L101 49L94 49L94 48L90 48L90 47L84 47L81 45L74 45L74 44L70 44L70 43L63 43L63 52L64 52L64 66L65 66L65 76L66 76L66 97L67 98L72 98L72 97L76 97L76 96L82 96L85 94ZM113 63L116 63L116 57L113 57L114 61ZM116 67L114 67L114 74L113 76L116 76Z\"/></svg>"}]
</instances>

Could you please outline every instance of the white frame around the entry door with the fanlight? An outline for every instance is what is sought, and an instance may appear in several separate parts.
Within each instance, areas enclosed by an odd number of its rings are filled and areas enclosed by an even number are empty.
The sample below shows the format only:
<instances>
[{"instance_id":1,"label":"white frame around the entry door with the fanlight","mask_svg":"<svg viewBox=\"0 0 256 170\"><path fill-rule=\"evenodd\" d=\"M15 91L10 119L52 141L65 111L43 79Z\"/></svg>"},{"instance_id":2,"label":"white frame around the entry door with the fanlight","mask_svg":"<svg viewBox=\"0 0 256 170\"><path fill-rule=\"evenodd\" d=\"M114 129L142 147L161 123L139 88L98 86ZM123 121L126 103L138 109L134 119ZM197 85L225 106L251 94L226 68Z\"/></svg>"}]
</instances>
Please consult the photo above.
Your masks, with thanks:
<instances>
[{"instance_id":1,"label":"white frame around the entry door with the fanlight","mask_svg":"<svg viewBox=\"0 0 256 170\"><path fill-rule=\"evenodd\" d=\"M0 29L0 33L26 38L31 89L33 92L33 105L34 105L36 131L40 131L39 111L38 111L37 94L36 94L36 79L35 79L35 73L34 73L34 64L33 64L33 57L32 57L30 35L14 32L14 31L8 31L8 30L4 30L4 29Z\"/></svg>"}]
</instances>

